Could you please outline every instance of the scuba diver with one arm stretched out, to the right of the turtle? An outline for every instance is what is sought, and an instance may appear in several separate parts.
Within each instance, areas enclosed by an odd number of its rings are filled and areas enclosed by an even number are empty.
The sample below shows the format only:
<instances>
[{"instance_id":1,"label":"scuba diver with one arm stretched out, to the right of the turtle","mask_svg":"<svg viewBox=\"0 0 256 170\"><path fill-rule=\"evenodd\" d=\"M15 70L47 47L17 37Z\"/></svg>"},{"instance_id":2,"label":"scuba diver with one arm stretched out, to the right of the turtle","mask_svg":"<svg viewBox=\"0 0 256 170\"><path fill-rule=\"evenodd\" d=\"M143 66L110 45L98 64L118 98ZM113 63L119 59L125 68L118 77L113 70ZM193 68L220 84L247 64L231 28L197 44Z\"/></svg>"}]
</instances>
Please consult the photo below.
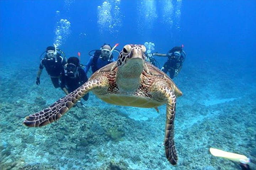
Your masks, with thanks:
<instances>
[{"instance_id":1,"label":"scuba diver with one arm stretched out, to the right of the turtle","mask_svg":"<svg viewBox=\"0 0 256 170\"><path fill-rule=\"evenodd\" d=\"M183 62L186 58L186 53L182 48L183 48L183 44L181 47L178 47L178 46L173 47L166 54L153 53L153 56L156 55L156 56L168 57L167 61L165 62L161 70L165 73L169 72L171 79L173 79L178 75L178 73L180 73Z\"/></svg>"}]
</instances>

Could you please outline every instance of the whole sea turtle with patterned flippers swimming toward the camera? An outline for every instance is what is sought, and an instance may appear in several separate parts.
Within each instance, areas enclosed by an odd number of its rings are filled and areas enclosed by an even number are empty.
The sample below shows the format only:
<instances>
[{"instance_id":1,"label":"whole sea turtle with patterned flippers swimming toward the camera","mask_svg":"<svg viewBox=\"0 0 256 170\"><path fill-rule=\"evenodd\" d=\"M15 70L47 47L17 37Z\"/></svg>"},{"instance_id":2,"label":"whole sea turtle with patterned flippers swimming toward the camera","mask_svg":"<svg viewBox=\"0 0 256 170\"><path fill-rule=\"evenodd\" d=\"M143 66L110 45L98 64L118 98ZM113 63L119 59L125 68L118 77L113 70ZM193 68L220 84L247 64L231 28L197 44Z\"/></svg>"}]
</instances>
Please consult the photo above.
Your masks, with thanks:
<instances>
[{"instance_id":1,"label":"whole sea turtle with patterned flippers swimming toward the camera","mask_svg":"<svg viewBox=\"0 0 256 170\"><path fill-rule=\"evenodd\" d=\"M23 124L39 127L52 123L91 90L101 100L115 105L157 108L166 104L165 155L176 165L174 118L176 97L182 92L164 72L145 62L145 52L144 45L125 45L117 62L97 70L86 83L48 108L27 116Z\"/></svg>"}]
</instances>

